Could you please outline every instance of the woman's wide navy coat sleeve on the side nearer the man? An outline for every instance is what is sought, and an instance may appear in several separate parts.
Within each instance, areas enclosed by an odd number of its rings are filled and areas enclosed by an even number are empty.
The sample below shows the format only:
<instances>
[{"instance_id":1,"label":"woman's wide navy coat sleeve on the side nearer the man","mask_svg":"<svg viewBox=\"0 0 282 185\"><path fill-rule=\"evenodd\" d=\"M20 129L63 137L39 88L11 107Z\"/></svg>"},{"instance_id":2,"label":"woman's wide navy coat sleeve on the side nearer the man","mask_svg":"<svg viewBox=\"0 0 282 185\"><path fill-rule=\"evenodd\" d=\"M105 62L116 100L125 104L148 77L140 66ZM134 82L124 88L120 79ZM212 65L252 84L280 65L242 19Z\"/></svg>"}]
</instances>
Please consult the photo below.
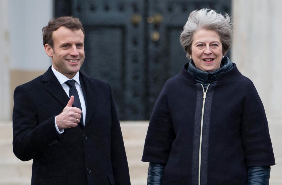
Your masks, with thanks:
<instances>
[{"instance_id":1,"label":"woman's wide navy coat sleeve on the side nearer the man","mask_svg":"<svg viewBox=\"0 0 282 185\"><path fill-rule=\"evenodd\" d=\"M175 138L169 115L166 85L162 89L150 119L142 161L166 164Z\"/></svg>"}]
</instances>

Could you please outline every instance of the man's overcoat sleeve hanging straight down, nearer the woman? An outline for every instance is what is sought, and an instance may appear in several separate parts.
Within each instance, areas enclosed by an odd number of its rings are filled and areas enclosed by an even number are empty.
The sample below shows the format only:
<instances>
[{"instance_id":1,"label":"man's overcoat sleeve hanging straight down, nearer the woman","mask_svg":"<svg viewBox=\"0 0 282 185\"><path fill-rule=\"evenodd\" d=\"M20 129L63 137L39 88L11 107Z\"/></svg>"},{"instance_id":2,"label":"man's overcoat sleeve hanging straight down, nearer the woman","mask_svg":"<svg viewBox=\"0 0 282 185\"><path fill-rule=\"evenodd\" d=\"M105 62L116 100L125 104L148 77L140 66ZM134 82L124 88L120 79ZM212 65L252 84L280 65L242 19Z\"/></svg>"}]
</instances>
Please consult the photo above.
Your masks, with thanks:
<instances>
[{"instance_id":1,"label":"man's overcoat sleeve hanging straight down, nearer the woman","mask_svg":"<svg viewBox=\"0 0 282 185\"><path fill-rule=\"evenodd\" d=\"M110 85L109 85L110 87ZM111 127L111 160L115 185L130 185L128 163L125 154L125 147L120 128L120 122L117 115L113 91L110 88L112 127Z\"/></svg>"}]
</instances>

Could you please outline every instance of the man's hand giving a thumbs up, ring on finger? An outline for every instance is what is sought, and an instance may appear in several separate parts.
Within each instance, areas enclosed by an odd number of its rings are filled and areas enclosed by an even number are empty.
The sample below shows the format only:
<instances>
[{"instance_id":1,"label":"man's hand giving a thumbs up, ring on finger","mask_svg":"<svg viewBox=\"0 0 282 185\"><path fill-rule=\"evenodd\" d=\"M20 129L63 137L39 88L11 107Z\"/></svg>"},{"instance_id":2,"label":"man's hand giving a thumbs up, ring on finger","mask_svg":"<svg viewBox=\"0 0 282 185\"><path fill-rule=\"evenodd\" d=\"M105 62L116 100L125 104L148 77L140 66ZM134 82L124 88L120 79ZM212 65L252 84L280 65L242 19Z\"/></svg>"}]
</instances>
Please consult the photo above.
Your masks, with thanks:
<instances>
[{"instance_id":1,"label":"man's hand giving a thumbs up, ring on finger","mask_svg":"<svg viewBox=\"0 0 282 185\"><path fill-rule=\"evenodd\" d=\"M56 117L58 129L76 127L80 122L82 111L77 107L72 107L73 102L74 96L71 96L68 104L63 109L63 112Z\"/></svg>"}]
</instances>

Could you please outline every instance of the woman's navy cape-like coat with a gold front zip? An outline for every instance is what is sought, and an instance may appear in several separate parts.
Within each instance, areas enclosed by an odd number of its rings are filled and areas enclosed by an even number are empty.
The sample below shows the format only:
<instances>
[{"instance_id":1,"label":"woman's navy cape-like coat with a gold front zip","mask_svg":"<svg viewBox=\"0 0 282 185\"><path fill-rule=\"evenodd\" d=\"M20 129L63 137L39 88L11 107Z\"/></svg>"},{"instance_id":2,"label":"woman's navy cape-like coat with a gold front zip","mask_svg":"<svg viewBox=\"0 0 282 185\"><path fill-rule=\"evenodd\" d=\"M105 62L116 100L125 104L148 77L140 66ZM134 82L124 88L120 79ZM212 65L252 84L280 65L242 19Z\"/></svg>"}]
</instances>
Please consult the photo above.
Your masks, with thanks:
<instances>
[{"instance_id":1,"label":"woman's navy cape-like coat with a gold front zip","mask_svg":"<svg viewBox=\"0 0 282 185\"><path fill-rule=\"evenodd\" d=\"M142 157L166 164L163 185L246 184L248 167L275 164L261 99L233 65L209 86L203 117L203 88L188 64L164 85Z\"/></svg>"}]
</instances>

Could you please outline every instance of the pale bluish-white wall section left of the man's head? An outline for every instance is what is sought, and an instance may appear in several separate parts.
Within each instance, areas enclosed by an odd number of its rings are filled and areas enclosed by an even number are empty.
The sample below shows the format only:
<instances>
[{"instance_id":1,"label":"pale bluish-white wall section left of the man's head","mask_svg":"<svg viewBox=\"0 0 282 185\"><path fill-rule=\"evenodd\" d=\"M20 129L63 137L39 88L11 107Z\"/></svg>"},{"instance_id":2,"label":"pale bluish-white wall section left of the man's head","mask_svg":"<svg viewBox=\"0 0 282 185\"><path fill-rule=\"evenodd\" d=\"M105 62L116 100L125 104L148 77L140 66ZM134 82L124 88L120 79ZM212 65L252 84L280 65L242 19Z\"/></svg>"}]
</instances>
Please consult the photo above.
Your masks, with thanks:
<instances>
[{"instance_id":1,"label":"pale bluish-white wall section left of the man's head","mask_svg":"<svg viewBox=\"0 0 282 185\"><path fill-rule=\"evenodd\" d=\"M11 69L46 70L42 28L53 18L53 1L9 0Z\"/></svg>"}]
</instances>

